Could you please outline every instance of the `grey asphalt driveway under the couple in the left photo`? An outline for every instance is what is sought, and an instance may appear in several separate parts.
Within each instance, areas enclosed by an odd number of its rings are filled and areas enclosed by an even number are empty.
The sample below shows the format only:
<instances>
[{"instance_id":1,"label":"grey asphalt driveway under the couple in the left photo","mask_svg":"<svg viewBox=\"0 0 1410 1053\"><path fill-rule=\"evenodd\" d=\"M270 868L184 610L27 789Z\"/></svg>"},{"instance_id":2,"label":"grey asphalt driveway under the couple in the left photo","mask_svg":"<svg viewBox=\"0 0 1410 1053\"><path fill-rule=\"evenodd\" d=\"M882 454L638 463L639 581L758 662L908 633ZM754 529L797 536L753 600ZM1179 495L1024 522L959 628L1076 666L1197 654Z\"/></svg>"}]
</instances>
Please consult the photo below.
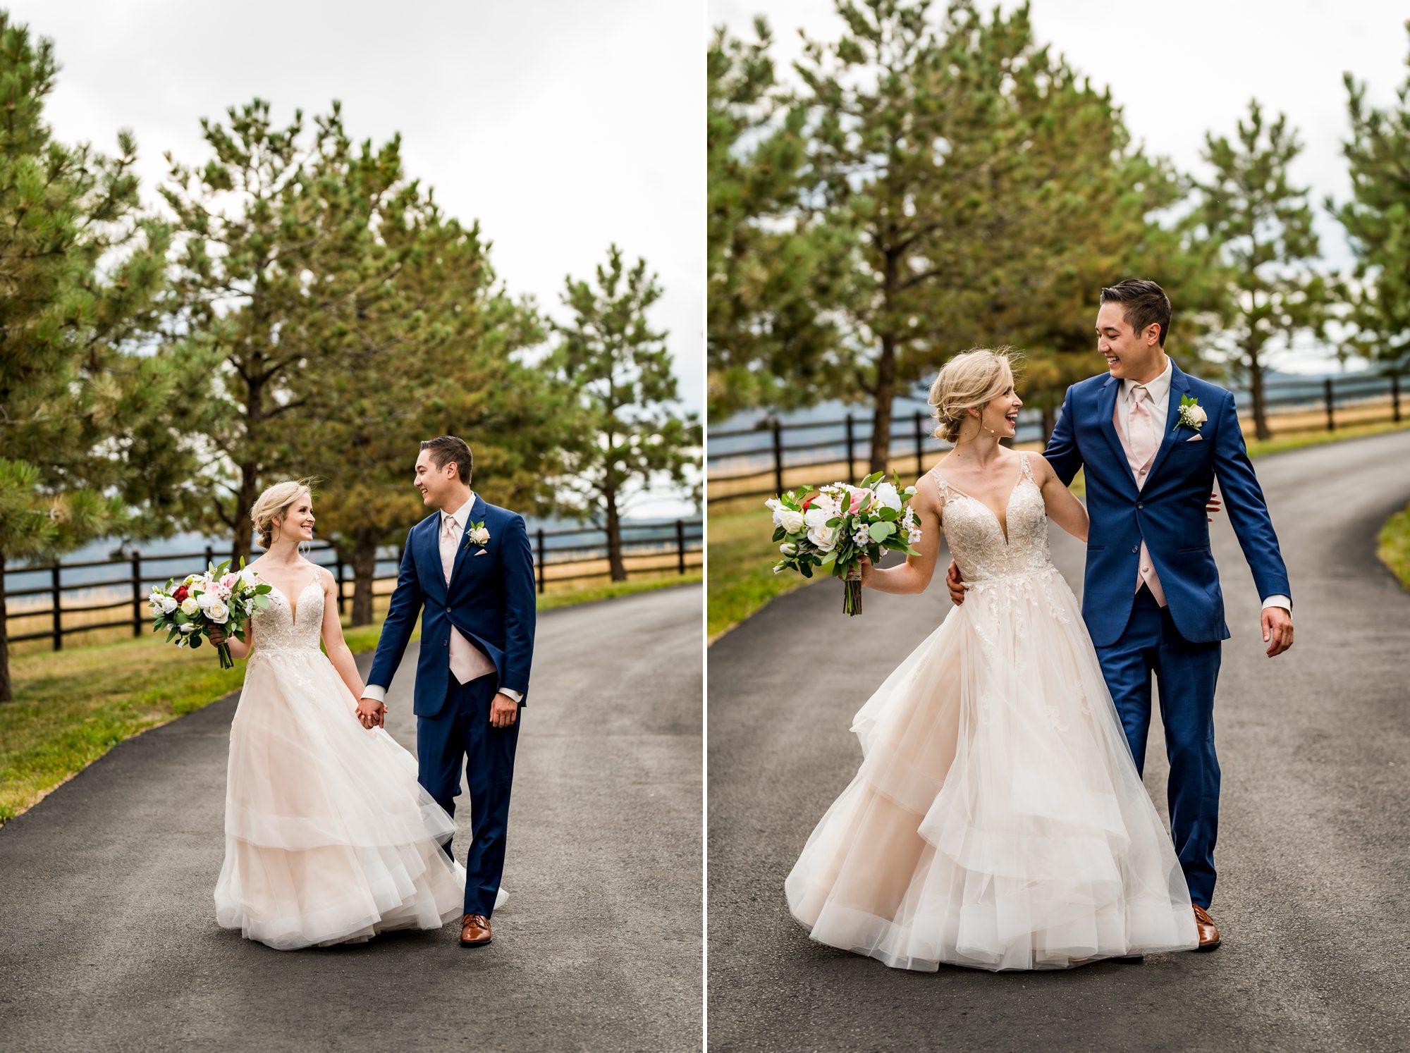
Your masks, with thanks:
<instances>
[{"instance_id":1,"label":"grey asphalt driveway under the couple in the left photo","mask_svg":"<svg viewBox=\"0 0 1410 1053\"><path fill-rule=\"evenodd\" d=\"M0 1049L699 1049L701 664L699 585L540 616L510 899L477 950L217 928L234 699L123 743L0 829Z\"/></svg>"}]
</instances>

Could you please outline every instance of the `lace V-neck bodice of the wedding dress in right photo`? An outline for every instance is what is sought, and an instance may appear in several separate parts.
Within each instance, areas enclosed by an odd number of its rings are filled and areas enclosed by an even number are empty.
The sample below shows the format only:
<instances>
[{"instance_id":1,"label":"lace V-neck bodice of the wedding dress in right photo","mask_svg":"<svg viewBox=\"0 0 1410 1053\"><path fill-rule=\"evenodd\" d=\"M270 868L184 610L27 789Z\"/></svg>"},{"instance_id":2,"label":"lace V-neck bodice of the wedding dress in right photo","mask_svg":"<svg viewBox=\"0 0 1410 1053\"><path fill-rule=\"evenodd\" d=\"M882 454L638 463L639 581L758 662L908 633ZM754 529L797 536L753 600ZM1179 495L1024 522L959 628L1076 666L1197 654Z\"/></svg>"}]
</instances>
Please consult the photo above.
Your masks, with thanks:
<instances>
[{"instance_id":1,"label":"lace V-neck bodice of the wedding dress in right photo","mask_svg":"<svg viewBox=\"0 0 1410 1053\"><path fill-rule=\"evenodd\" d=\"M940 526L966 582L1029 574L1052 565L1043 493L1028 467L1028 454L1018 458L1018 482L1008 495L1007 541L993 509L946 482L939 467L931 469L945 502Z\"/></svg>"}]
</instances>

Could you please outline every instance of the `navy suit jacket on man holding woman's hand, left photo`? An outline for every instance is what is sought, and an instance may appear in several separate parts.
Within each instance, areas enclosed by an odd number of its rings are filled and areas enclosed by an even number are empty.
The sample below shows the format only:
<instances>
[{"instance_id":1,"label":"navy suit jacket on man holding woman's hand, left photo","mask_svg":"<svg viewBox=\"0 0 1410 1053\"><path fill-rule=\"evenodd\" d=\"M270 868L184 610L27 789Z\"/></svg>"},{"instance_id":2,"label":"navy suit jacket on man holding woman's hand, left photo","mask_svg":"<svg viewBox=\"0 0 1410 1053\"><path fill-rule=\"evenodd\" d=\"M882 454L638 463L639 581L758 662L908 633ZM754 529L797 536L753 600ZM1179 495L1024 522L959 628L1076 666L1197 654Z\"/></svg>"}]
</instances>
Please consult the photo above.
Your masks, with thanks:
<instances>
[{"instance_id":1,"label":"navy suit jacket on man holding woman's hand, left photo","mask_svg":"<svg viewBox=\"0 0 1410 1053\"><path fill-rule=\"evenodd\" d=\"M519 691L526 701L529 696L536 613L529 529L517 512L489 505L477 493L470 522L481 520L489 530L489 541L481 548L465 531L455 551L450 585L440 560L441 513L431 513L406 536L396 591L376 641L368 684L392 682L416 616L422 615L413 706L417 716L436 716L446 703L451 626L495 664L499 688Z\"/></svg>"}]
</instances>

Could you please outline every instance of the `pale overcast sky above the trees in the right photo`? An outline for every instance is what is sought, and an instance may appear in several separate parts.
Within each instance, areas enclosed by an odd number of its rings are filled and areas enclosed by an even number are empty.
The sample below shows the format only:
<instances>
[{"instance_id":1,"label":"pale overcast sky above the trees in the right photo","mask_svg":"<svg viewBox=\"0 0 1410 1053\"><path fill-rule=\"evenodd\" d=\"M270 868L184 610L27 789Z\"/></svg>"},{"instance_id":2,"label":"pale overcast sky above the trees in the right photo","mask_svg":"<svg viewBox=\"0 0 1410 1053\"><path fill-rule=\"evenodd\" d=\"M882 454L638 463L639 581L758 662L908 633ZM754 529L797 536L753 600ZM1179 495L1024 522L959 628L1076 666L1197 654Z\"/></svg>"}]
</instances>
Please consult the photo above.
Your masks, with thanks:
<instances>
[{"instance_id":1,"label":"pale overcast sky above the trees in the right photo","mask_svg":"<svg viewBox=\"0 0 1410 1053\"><path fill-rule=\"evenodd\" d=\"M1001 4L1004 10L1015 6ZM943 0L936 0L933 10L943 8ZM830 0L709 0L711 25L728 25L736 35L749 35L753 17L764 14L781 66L801 52L799 28L812 38L836 39L840 20L833 11ZM1323 255L1338 268L1349 266L1351 252L1341 224L1321 202L1349 195L1341 155L1348 134L1342 72L1368 82L1372 101L1393 101L1410 48L1406 17L1404 0L1032 3L1038 39L1063 52L1094 85L1110 85L1134 137L1182 171L1204 172L1204 133L1232 137L1249 99L1258 97L1265 113L1286 113L1304 144L1292 176L1311 187ZM1279 365L1314 369L1325 361L1324 350L1308 347Z\"/></svg>"}]
</instances>

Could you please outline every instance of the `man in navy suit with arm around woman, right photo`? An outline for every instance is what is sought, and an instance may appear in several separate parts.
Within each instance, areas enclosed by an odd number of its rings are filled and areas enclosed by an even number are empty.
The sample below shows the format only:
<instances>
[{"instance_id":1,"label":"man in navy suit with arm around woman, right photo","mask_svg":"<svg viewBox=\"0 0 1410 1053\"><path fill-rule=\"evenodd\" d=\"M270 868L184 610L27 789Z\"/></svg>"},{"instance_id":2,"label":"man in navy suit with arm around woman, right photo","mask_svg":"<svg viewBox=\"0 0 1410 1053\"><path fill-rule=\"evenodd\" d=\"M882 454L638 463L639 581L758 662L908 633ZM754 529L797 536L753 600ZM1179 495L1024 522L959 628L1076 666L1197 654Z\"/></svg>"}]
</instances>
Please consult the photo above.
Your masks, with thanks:
<instances>
[{"instance_id":1,"label":"man in navy suit with arm around woman, right photo","mask_svg":"<svg viewBox=\"0 0 1410 1053\"><path fill-rule=\"evenodd\" d=\"M1067 389L1043 457L1065 485L1087 469L1083 619L1136 771L1145 767L1152 672L1160 686L1170 833L1200 950L1213 950L1220 943L1208 915L1220 802L1214 682L1220 641L1230 636L1204 515L1215 476L1263 601L1268 657L1293 646L1293 619L1287 569L1234 396L1166 357L1169 328L1170 300L1155 282L1128 279L1101 290L1097 350L1108 372ZM949 586L962 602L953 564Z\"/></svg>"}]
</instances>

